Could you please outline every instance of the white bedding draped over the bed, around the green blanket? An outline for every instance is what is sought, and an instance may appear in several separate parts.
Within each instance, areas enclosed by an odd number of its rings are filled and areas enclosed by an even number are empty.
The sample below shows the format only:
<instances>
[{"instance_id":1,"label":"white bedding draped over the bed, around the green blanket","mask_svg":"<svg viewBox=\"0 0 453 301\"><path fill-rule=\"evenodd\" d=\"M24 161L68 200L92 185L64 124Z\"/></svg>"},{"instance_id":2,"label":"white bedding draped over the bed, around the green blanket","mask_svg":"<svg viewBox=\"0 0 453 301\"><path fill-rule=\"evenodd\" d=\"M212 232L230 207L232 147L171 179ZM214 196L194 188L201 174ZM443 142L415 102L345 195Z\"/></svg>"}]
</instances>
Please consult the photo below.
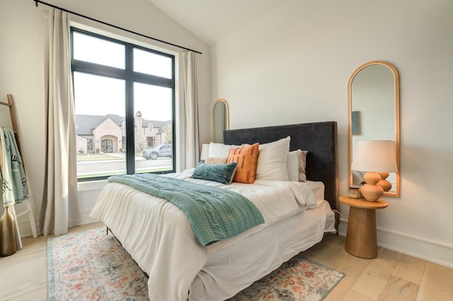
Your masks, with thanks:
<instances>
[{"instance_id":1,"label":"white bedding draped over the bed, around the green blanket","mask_svg":"<svg viewBox=\"0 0 453 301\"><path fill-rule=\"evenodd\" d=\"M109 183L90 217L102 220L149 275L151 300L224 300L319 242L323 232L334 230L322 183L223 185L190 179L191 171L170 176L237 191L255 203L265 223L202 247L179 208L127 185Z\"/></svg>"}]
</instances>

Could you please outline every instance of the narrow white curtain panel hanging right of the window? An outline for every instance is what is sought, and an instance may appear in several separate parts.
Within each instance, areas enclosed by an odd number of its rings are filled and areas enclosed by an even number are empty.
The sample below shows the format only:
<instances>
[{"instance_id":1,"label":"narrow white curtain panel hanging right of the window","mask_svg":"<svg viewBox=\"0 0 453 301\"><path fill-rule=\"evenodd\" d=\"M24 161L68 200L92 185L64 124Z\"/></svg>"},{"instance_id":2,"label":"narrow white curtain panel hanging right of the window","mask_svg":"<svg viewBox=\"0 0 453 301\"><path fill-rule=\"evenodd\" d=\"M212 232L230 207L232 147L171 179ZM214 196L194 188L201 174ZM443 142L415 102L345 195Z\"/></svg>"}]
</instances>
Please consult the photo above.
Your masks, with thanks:
<instances>
[{"instance_id":1,"label":"narrow white curtain panel hanging right of the window","mask_svg":"<svg viewBox=\"0 0 453 301\"><path fill-rule=\"evenodd\" d=\"M183 73L184 73L184 93L183 108L184 113L183 135L180 143L183 144L183 158L181 163L183 169L195 167L200 158L199 151L199 131L198 131L198 95L197 95L197 70L195 68L195 53L183 53Z\"/></svg>"}]
</instances>

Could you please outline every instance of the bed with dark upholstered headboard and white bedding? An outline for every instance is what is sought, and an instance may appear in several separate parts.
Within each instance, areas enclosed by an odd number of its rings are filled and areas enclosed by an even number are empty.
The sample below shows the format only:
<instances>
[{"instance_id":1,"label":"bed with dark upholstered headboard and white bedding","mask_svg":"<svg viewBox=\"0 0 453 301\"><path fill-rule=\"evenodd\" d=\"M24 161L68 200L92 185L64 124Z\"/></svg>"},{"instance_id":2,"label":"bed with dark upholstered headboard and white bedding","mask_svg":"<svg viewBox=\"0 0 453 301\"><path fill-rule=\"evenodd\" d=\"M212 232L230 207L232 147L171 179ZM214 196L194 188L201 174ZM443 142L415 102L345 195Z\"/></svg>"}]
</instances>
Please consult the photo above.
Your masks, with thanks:
<instances>
[{"instance_id":1,"label":"bed with dark upholstered headboard and white bedding","mask_svg":"<svg viewBox=\"0 0 453 301\"><path fill-rule=\"evenodd\" d=\"M333 213L338 200L336 122L224 131L224 143L264 144L287 136L291 137L289 151L308 151L308 181L301 187L308 189L307 194L313 194L316 204L306 208L298 204L299 209L294 211L294 205L274 202L274 208L263 209L265 223L228 240L202 246L188 218L168 201L121 183L112 182L103 189L90 216L103 221L149 275L150 300L226 300L321 241L325 232L336 230ZM171 177L189 179L191 172ZM270 185L259 180L253 185L223 185L202 179L193 182L243 192L256 201L260 210L260 201L266 198L256 191L286 199L287 187L292 185L290 182ZM275 189L279 192L272 196ZM279 214L282 216L276 218Z\"/></svg>"}]
</instances>

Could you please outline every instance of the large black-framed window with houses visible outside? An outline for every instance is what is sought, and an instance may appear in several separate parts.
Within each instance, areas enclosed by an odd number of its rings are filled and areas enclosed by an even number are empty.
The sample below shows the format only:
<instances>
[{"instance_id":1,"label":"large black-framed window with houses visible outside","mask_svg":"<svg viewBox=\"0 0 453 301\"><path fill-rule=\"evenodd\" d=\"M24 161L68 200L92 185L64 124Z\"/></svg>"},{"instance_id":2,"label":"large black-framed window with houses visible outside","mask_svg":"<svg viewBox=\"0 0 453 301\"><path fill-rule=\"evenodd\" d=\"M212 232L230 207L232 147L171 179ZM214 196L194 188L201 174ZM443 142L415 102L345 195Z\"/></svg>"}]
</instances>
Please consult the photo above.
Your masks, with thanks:
<instances>
[{"instance_id":1,"label":"large black-framed window with houses visible outside","mask_svg":"<svg viewBox=\"0 0 453 301\"><path fill-rule=\"evenodd\" d=\"M175 58L71 28L79 180L175 170ZM166 144L168 151L151 154ZM83 149L83 148L82 148Z\"/></svg>"}]
</instances>

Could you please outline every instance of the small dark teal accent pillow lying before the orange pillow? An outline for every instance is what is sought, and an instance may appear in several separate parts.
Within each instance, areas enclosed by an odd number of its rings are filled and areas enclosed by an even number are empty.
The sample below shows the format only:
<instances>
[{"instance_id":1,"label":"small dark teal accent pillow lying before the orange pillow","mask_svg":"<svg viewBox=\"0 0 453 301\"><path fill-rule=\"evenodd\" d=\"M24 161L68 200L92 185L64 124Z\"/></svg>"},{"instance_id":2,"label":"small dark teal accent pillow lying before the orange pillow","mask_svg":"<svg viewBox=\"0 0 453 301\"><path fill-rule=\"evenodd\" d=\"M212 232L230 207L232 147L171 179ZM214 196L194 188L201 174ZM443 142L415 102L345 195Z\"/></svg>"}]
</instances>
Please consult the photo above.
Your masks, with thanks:
<instances>
[{"instance_id":1,"label":"small dark teal accent pillow lying before the orange pillow","mask_svg":"<svg viewBox=\"0 0 453 301\"><path fill-rule=\"evenodd\" d=\"M231 184L237 163L208 164L200 163L193 171L192 179L205 179L225 185Z\"/></svg>"}]
</instances>

